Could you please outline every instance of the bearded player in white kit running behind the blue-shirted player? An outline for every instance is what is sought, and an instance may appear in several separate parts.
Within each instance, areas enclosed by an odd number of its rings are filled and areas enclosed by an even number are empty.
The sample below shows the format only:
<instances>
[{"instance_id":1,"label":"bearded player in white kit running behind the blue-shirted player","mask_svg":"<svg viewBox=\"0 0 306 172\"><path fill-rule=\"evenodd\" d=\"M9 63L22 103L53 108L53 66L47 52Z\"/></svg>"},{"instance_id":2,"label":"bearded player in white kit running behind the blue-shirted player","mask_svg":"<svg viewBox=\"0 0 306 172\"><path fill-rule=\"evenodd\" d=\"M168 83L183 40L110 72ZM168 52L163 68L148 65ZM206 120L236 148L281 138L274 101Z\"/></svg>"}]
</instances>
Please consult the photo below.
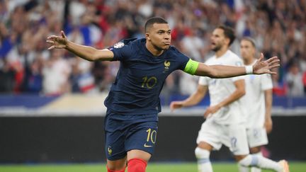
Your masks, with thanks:
<instances>
[{"instance_id":1,"label":"bearded player in white kit running behind the blue-shirted player","mask_svg":"<svg viewBox=\"0 0 306 172\"><path fill-rule=\"evenodd\" d=\"M234 31L227 26L217 27L211 37L211 49L215 55L205 64L225 64L241 66L242 59L229 50L234 41ZM263 56L261 54L261 56ZM287 172L286 161L279 163L266 159L263 156L249 154L244 125L244 110L239 98L244 96L244 77L238 76L229 79L210 79L200 77L198 89L184 101L171 102L170 108L182 108L198 104L209 90L210 107L205 111L205 122L198 133L195 154L198 159L199 172L212 172L210 151L219 150L222 144L229 147L234 158L241 166L256 166L274 171Z\"/></svg>"}]
</instances>

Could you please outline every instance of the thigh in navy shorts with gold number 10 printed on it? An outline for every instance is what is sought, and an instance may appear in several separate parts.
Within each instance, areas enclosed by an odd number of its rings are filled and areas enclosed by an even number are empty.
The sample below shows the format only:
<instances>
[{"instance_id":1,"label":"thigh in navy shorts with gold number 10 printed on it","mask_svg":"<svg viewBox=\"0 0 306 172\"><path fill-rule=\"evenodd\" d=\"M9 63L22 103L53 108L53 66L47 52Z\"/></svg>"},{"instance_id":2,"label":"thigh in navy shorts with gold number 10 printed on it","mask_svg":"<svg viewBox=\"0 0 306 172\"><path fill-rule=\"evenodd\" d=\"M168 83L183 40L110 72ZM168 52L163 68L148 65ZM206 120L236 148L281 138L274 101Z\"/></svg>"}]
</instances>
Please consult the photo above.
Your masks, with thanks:
<instances>
[{"instance_id":1,"label":"thigh in navy shorts with gold number 10 printed on it","mask_svg":"<svg viewBox=\"0 0 306 172\"><path fill-rule=\"evenodd\" d=\"M125 138L125 151L140 150L137 154L144 151L152 155L156 142L157 121L139 122L128 130Z\"/></svg>"}]
</instances>

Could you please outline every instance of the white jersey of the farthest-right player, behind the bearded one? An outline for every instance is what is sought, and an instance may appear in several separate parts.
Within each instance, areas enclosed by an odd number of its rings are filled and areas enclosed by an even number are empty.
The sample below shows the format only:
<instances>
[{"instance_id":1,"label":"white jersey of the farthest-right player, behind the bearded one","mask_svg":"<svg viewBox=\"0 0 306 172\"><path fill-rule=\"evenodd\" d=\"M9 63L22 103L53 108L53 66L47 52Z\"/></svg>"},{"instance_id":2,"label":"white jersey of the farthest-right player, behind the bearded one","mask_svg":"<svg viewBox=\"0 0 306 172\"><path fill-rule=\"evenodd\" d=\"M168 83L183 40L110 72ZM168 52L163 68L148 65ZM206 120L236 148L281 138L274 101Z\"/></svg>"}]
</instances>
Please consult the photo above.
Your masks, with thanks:
<instances>
[{"instance_id":1,"label":"white jersey of the farthest-right player, behind the bearded one","mask_svg":"<svg viewBox=\"0 0 306 172\"><path fill-rule=\"evenodd\" d=\"M271 75L250 74L245 76L244 81L246 94L242 97L242 102L246 112L246 128L263 127L266 113L264 91L273 88Z\"/></svg>"}]
</instances>

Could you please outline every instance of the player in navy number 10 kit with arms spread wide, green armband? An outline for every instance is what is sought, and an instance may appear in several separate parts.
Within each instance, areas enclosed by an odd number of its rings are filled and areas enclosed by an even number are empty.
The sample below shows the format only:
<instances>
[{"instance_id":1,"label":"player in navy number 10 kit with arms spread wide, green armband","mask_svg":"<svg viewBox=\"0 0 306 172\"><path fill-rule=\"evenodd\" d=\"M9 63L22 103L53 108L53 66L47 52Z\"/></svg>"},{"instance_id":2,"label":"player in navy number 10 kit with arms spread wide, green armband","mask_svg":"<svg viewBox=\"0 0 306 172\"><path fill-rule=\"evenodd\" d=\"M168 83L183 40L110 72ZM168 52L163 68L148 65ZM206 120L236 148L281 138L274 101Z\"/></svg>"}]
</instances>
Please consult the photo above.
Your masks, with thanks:
<instances>
[{"instance_id":1,"label":"player in navy number 10 kit with arms spread wide, green armband","mask_svg":"<svg viewBox=\"0 0 306 172\"><path fill-rule=\"evenodd\" d=\"M157 114L161 111L159 93L172 71L225 78L244 74L273 74L270 69L279 66L278 57L259 60L253 67L208 66L195 62L171 46L169 24L159 17L145 23L145 38L129 39L113 47L96 50L77 45L61 36L47 38L48 48L63 48L89 61L120 61L120 69L104 104L106 157L108 172L145 171L153 154L157 137ZM263 57L261 57L263 59Z\"/></svg>"}]
</instances>

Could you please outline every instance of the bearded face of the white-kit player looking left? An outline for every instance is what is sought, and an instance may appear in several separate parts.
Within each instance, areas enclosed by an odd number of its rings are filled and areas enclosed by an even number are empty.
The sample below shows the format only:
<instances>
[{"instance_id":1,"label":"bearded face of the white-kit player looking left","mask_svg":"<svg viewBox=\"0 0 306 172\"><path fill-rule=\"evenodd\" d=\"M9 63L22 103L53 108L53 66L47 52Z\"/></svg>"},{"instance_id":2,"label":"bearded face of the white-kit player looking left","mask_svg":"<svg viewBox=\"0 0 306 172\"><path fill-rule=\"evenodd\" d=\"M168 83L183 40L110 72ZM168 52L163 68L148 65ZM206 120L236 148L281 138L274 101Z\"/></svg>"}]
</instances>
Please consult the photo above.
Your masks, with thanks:
<instances>
[{"instance_id":1,"label":"bearded face of the white-kit player looking left","mask_svg":"<svg viewBox=\"0 0 306 172\"><path fill-rule=\"evenodd\" d=\"M220 28L216 28L212 32L212 36L210 38L211 45L210 48L212 51L217 52L220 50L223 46L227 45L228 38L225 38L224 30Z\"/></svg>"}]
</instances>

